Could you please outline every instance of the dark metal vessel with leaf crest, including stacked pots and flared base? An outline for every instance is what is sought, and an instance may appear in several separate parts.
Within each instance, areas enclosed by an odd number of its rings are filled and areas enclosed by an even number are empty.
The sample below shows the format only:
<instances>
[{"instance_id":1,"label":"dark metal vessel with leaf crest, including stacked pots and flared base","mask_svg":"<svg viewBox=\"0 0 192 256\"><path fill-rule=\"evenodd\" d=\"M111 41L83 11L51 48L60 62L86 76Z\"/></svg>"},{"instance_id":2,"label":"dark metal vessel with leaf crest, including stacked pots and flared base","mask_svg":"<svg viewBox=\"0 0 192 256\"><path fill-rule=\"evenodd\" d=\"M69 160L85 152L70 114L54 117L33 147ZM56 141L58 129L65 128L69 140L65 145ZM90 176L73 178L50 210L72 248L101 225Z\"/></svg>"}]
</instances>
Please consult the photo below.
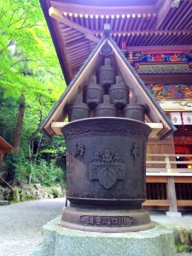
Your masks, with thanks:
<instances>
[{"instance_id":1,"label":"dark metal vessel with leaf crest, including stacked pots and flared base","mask_svg":"<svg viewBox=\"0 0 192 256\"><path fill-rule=\"evenodd\" d=\"M146 199L145 155L150 127L145 108L117 76L109 58L69 106L62 128L67 143L67 200L60 225L127 232L153 227ZM79 110L80 109L80 110ZM90 117L91 116L91 117Z\"/></svg>"}]
</instances>

